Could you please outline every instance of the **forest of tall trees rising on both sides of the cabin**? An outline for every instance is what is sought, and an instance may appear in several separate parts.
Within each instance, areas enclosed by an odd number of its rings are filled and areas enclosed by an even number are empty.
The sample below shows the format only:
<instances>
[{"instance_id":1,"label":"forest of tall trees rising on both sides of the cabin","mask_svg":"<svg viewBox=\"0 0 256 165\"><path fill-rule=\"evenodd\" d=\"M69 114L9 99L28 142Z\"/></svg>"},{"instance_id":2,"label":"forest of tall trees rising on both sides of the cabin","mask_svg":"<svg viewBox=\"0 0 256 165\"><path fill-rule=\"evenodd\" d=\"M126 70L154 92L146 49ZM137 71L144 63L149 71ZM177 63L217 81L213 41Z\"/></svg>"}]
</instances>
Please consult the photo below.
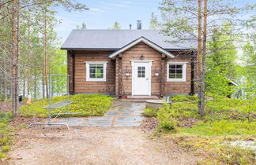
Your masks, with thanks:
<instances>
[{"instance_id":1,"label":"forest of tall trees rising on both sides of the cabin","mask_svg":"<svg viewBox=\"0 0 256 165\"><path fill-rule=\"evenodd\" d=\"M152 13L149 28L175 38L167 42L190 40L198 45L199 60L196 62L201 76L195 81L199 98L201 94L204 97L205 94L212 97L232 94L232 97L241 98L254 95L254 16L242 16L251 13L254 5L236 7L231 2L208 2L210 7L205 10L208 14L202 9L199 16L197 1L193 3L195 6L190 6L187 1L176 3L178 5L170 0L162 1L161 16ZM66 53L59 49L62 43L55 31L56 25L61 24L55 17L58 7L68 12L88 9L85 4L71 0L1 1L0 99L13 101L15 109L19 95L26 97L30 94L34 100L48 97L47 75L66 74ZM77 25L77 28L86 29L86 24ZM121 27L116 21L108 29ZM188 38L186 34L192 37ZM239 86L230 86L232 81ZM58 88L52 87L53 93L62 94L66 88L65 80L54 80L54 83L58 83Z\"/></svg>"}]
</instances>

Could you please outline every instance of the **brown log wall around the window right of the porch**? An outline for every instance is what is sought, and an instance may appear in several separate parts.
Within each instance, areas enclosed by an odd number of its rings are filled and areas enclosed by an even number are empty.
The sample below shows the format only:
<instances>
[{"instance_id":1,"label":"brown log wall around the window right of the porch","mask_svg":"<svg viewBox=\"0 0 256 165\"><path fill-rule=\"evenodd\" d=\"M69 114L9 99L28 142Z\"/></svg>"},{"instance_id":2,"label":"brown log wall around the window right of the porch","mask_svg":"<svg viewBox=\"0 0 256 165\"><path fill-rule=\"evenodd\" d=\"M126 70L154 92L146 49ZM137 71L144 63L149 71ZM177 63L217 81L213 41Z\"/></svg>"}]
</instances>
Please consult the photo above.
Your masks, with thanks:
<instances>
[{"instance_id":1,"label":"brown log wall around the window right of the porch","mask_svg":"<svg viewBox=\"0 0 256 165\"><path fill-rule=\"evenodd\" d=\"M167 81L167 62L188 62L186 64L186 82L166 82L165 83L165 95L166 94L189 94L191 91L191 61L189 53L171 52L176 57L168 58L165 63L165 80Z\"/></svg>"}]
</instances>

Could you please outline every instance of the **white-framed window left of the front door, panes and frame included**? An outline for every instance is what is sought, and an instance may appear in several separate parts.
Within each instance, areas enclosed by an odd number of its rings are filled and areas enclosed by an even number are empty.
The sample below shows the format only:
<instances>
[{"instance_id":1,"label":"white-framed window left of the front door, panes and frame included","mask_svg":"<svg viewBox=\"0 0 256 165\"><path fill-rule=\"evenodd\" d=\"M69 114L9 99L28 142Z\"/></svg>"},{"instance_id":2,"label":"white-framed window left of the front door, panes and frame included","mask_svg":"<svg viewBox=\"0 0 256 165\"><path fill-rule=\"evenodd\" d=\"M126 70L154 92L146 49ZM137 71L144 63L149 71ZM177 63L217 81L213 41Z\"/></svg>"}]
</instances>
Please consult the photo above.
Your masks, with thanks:
<instances>
[{"instance_id":1,"label":"white-framed window left of the front door, panes and frame included","mask_svg":"<svg viewBox=\"0 0 256 165\"><path fill-rule=\"evenodd\" d=\"M107 62L88 61L86 64L86 81L105 82Z\"/></svg>"}]
</instances>

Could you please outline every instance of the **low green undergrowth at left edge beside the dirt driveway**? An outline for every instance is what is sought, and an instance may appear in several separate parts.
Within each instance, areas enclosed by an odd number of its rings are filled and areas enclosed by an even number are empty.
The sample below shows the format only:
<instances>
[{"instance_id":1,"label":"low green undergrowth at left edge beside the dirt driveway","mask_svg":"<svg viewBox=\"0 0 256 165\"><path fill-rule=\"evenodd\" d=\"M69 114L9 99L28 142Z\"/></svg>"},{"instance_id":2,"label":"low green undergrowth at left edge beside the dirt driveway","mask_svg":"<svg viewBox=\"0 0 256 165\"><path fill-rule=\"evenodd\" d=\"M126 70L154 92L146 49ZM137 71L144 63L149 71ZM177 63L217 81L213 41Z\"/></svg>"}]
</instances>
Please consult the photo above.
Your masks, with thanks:
<instances>
[{"instance_id":1,"label":"low green undergrowth at left edge beside the dirt driveway","mask_svg":"<svg viewBox=\"0 0 256 165\"><path fill-rule=\"evenodd\" d=\"M12 145L14 128L8 125L11 118L11 113L0 112L0 159L6 156Z\"/></svg>"}]
</instances>

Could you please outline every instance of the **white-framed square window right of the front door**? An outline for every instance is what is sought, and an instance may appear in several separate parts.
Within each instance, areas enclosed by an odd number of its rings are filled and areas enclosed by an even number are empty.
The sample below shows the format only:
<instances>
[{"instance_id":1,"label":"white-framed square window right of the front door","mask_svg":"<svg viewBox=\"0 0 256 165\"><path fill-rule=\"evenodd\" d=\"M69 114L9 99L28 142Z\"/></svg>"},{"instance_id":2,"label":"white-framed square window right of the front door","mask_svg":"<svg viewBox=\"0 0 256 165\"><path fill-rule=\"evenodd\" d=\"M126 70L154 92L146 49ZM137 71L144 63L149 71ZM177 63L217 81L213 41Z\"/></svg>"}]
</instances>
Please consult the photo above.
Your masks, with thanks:
<instances>
[{"instance_id":1,"label":"white-framed square window right of the front door","mask_svg":"<svg viewBox=\"0 0 256 165\"><path fill-rule=\"evenodd\" d=\"M186 62L168 63L168 82L186 82Z\"/></svg>"}]
</instances>

